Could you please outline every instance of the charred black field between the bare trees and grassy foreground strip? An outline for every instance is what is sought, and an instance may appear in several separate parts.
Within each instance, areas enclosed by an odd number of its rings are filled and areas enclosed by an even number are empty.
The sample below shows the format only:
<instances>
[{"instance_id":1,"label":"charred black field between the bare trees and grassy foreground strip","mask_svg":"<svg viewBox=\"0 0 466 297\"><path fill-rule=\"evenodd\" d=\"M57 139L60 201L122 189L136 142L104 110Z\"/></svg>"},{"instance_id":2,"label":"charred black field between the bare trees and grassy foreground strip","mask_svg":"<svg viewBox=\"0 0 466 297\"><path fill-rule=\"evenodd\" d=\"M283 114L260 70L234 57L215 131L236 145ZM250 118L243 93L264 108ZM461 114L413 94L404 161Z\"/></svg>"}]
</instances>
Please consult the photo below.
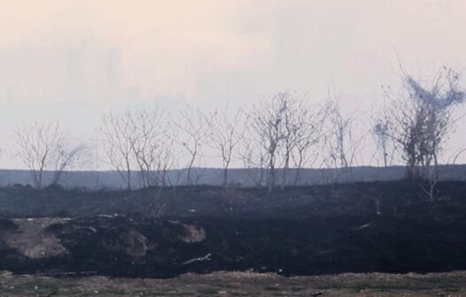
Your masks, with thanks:
<instances>
[{"instance_id":1,"label":"charred black field between the bare trees and grassy foreground strip","mask_svg":"<svg viewBox=\"0 0 466 297\"><path fill-rule=\"evenodd\" d=\"M427 187L427 186L425 186ZM170 278L466 270L466 183L0 189L0 270Z\"/></svg>"}]
</instances>

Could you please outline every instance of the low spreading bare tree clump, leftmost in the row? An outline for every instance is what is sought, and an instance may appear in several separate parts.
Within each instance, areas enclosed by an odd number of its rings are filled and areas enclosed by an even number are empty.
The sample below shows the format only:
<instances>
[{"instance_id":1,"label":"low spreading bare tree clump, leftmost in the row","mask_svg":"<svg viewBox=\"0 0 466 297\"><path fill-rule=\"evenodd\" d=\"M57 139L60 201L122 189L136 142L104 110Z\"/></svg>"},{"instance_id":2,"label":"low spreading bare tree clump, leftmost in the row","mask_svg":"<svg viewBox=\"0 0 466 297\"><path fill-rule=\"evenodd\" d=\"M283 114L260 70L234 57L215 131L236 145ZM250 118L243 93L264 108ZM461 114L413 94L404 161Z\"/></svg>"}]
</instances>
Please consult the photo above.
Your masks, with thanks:
<instances>
[{"instance_id":1,"label":"low spreading bare tree clump, leftmost in the row","mask_svg":"<svg viewBox=\"0 0 466 297\"><path fill-rule=\"evenodd\" d=\"M72 145L66 130L58 122L35 122L17 126L13 133L18 156L27 166L35 187L43 187L43 171L53 170L52 183L58 183L62 172L80 160L86 147Z\"/></svg>"}]
</instances>

